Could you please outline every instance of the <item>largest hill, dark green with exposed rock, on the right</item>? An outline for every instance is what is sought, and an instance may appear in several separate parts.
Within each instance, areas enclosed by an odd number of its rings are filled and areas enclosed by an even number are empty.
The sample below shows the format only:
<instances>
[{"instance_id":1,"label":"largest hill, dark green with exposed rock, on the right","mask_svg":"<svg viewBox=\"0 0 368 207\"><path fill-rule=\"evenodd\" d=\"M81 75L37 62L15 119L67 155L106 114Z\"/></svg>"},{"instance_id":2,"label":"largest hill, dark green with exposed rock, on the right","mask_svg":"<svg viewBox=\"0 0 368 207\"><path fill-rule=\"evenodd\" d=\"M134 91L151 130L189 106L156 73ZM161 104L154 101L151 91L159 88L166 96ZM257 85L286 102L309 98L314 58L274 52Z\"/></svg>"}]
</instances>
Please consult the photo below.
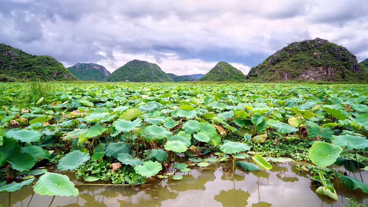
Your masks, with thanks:
<instances>
[{"instance_id":1,"label":"largest hill, dark green with exposed rock, on the right","mask_svg":"<svg viewBox=\"0 0 368 207\"><path fill-rule=\"evenodd\" d=\"M343 46L316 38L293 42L252 67L252 81L367 81L368 69Z\"/></svg>"}]
</instances>

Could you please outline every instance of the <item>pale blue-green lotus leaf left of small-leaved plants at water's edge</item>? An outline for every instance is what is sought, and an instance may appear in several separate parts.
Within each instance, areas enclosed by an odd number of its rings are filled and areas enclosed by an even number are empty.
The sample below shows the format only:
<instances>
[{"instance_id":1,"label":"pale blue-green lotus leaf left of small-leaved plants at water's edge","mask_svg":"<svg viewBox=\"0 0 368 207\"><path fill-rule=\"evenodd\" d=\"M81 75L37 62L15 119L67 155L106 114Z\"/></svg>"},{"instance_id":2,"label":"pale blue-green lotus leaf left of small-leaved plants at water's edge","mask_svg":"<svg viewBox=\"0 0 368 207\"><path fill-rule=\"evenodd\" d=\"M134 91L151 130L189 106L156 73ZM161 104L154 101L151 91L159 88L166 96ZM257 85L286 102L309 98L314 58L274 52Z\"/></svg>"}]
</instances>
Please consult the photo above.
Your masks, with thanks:
<instances>
[{"instance_id":1,"label":"pale blue-green lotus leaf left of small-leaved plants at water's edge","mask_svg":"<svg viewBox=\"0 0 368 207\"><path fill-rule=\"evenodd\" d=\"M69 152L59 160L59 165L57 165L57 169L61 171L73 171L75 169L78 169L85 162L87 162L89 158L91 158L89 154L86 154L79 150Z\"/></svg>"}]
</instances>

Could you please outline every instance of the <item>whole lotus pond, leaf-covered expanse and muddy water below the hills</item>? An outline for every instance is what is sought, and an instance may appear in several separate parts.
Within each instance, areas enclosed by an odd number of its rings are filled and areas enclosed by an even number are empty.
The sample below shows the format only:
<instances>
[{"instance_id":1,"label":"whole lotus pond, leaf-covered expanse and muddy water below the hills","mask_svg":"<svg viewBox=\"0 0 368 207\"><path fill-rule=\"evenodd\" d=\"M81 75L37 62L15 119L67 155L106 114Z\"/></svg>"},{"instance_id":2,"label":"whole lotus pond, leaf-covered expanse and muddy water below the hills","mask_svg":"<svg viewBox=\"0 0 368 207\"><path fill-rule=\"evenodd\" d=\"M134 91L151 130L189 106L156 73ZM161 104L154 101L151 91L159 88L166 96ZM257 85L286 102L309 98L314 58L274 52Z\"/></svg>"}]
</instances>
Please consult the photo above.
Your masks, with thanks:
<instances>
[{"instance_id":1,"label":"whole lotus pond, leaf-covered expanse and muddy water below the hills","mask_svg":"<svg viewBox=\"0 0 368 207\"><path fill-rule=\"evenodd\" d=\"M3 206L365 203L368 85L0 84Z\"/></svg>"}]
</instances>

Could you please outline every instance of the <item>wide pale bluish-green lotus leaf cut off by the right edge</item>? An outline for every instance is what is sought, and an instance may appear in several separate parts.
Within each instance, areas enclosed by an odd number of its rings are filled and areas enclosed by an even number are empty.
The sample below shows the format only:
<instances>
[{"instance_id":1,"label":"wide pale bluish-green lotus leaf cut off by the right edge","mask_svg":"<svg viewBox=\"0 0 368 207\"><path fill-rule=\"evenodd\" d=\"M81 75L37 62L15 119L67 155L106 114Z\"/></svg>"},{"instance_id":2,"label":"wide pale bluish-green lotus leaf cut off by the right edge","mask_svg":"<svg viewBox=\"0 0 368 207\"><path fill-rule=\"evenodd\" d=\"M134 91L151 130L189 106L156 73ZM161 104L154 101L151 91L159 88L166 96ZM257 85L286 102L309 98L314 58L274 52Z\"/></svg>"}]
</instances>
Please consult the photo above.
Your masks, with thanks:
<instances>
[{"instance_id":1,"label":"wide pale bluish-green lotus leaf cut off by the right edge","mask_svg":"<svg viewBox=\"0 0 368 207\"><path fill-rule=\"evenodd\" d=\"M368 147L367 138L360 136L333 135L331 141L337 146L346 148L346 150L365 150Z\"/></svg>"}]
</instances>

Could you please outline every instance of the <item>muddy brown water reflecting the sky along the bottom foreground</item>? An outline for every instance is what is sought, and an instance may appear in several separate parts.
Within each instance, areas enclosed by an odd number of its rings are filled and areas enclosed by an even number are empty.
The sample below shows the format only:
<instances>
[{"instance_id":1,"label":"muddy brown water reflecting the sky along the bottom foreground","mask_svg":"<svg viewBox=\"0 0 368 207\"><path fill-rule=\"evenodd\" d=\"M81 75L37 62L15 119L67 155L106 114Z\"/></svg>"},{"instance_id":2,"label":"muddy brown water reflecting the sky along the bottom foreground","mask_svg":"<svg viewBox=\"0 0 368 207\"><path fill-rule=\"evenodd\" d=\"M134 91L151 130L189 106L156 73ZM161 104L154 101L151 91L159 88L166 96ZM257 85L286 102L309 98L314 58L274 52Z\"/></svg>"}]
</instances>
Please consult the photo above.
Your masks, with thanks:
<instances>
[{"instance_id":1,"label":"muddy brown water reflecting the sky along the bottom foreground","mask_svg":"<svg viewBox=\"0 0 368 207\"><path fill-rule=\"evenodd\" d=\"M149 186L78 185L78 197L56 196L53 201L52 196L33 194L32 186L25 186L17 192L0 193L0 203L4 207L47 207L51 201L54 207L343 207L346 198L353 196L358 201L368 201L368 194L338 188L336 184L338 201L317 195L309 175L297 171L292 163L275 163L270 171L260 172L238 168L232 173L232 163L209 167L176 173L184 175L182 180L152 180ZM76 182L73 173L66 175ZM363 176L368 180L366 171Z\"/></svg>"}]
</instances>

